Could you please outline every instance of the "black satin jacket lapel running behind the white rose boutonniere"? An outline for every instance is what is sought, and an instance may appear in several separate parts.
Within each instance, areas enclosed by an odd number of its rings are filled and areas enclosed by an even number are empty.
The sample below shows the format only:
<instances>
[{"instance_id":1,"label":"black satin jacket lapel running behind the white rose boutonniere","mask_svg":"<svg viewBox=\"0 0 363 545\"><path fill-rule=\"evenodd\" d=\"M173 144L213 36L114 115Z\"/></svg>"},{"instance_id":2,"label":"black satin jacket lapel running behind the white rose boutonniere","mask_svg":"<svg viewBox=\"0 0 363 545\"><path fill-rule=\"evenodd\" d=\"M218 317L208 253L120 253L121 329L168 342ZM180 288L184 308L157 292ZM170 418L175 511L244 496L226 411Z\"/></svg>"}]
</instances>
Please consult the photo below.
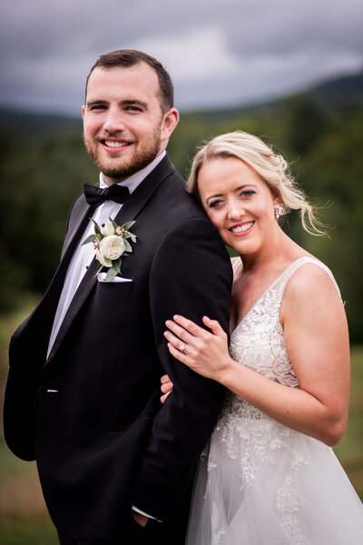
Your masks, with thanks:
<instances>
[{"instance_id":1,"label":"black satin jacket lapel running behind the white rose boutonniere","mask_svg":"<svg viewBox=\"0 0 363 545\"><path fill-rule=\"evenodd\" d=\"M127 199L126 203L123 204L122 209L115 216L114 222L121 225L122 223L136 220L139 213L141 213L142 208L151 198L152 193L154 193L159 185L174 172L175 170L172 163L166 155L164 159L162 159L161 163L159 163L152 171L152 173L150 173L142 181L142 183L138 185L135 191ZM54 341L52 351L49 354L49 358L47 362L45 362L45 365L47 365L54 357L55 352L57 352L61 343L63 342L64 336L74 321L75 316L80 311L83 302L85 302L89 293L93 289L95 282L97 282L96 273L97 262L95 259L93 259L93 262L90 264L88 271L84 274L83 281L78 286L78 289L74 294L74 299L64 316L64 321Z\"/></svg>"}]
</instances>

